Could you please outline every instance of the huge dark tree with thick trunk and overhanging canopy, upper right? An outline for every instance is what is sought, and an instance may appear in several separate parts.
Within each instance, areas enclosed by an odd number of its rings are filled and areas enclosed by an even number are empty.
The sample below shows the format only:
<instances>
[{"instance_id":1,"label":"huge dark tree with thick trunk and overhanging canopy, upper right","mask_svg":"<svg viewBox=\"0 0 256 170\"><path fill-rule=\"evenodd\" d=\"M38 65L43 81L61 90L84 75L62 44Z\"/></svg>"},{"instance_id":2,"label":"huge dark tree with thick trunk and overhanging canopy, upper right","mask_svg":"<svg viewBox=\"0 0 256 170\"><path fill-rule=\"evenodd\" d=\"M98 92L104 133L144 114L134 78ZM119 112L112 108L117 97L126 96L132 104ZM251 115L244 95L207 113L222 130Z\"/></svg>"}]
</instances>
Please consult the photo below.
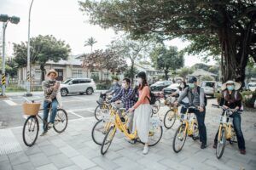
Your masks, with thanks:
<instances>
[{"instance_id":1,"label":"huge dark tree with thick trunk and overhanging canopy, upper right","mask_svg":"<svg viewBox=\"0 0 256 170\"><path fill-rule=\"evenodd\" d=\"M192 41L195 53L221 55L223 81L245 78L249 56L256 61L254 0L85 0L90 22L133 37L156 35Z\"/></svg>"}]
</instances>

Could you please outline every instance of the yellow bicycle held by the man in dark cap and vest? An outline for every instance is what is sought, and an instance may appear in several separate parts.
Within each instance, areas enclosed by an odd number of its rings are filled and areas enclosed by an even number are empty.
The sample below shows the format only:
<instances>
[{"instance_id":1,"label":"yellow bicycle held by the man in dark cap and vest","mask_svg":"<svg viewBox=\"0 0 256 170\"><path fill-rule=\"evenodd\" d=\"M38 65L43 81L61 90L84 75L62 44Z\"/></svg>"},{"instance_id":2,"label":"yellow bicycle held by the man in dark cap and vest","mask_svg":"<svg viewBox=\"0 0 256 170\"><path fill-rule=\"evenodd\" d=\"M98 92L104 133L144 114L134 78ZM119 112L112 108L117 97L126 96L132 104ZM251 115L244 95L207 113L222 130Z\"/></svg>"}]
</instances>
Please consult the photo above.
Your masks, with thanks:
<instances>
[{"instance_id":1,"label":"yellow bicycle held by the man in dark cap and vest","mask_svg":"<svg viewBox=\"0 0 256 170\"><path fill-rule=\"evenodd\" d=\"M174 135L172 141L172 149L178 153L183 149L183 145L187 139L187 135L193 140L199 139L198 124L194 113L191 110L197 110L194 106L189 106L186 114L181 114L180 121L182 122Z\"/></svg>"}]
</instances>

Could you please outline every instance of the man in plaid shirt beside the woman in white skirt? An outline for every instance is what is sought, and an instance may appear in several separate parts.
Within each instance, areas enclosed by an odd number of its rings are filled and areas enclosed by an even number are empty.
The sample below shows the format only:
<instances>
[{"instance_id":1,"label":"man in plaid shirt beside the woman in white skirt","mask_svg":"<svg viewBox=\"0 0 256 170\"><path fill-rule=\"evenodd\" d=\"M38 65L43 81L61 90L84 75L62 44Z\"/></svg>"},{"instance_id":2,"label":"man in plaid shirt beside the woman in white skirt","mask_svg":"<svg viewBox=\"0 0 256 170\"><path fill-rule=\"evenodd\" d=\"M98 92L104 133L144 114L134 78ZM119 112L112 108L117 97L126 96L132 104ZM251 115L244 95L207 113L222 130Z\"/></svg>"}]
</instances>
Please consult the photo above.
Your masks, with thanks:
<instances>
[{"instance_id":1,"label":"man in plaid shirt beside the woman in white skirt","mask_svg":"<svg viewBox=\"0 0 256 170\"><path fill-rule=\"evenodd\" d=\"M133 105L135 105L135 91L131 88L131 80L129 78L124 78L122 81L122 89L119 91L119 94L115 95L113 99L109 102L115 102L119 104L120 100L125 107L125 110L128 111ZM133 112L128 113L128 127L129 131L132 131L132 124L133 124ZM124 121L124 117L121 117L121 120Z\"/></svg>"}]
</instances>

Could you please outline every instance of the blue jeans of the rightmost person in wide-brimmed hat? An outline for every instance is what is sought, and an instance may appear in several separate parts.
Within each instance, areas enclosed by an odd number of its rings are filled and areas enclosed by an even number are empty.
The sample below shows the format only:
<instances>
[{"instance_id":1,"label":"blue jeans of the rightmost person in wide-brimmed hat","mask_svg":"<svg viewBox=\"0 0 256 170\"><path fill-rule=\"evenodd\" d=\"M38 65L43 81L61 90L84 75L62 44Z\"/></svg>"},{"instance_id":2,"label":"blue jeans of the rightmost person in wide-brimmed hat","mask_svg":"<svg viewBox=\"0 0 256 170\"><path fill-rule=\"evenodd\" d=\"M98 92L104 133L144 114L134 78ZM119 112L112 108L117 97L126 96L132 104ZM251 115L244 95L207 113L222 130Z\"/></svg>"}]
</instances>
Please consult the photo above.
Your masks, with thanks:
<instances>
[{"instance_id":1,"label":"blue jeans of the rightmost person in wide-brimmed hat","mask_svg":"<svg viewBox=\"0 0 256 170\"><path fill-rule=\"evenodd\" d=\"M233 126L236 132L236 139L238 143L239 150L245 150L245 141L243 138L243 134L241 132L241 116L239 112L234 112L230 117L233 118ZM218 131L216 133L214 143L217 144L218 142Z\"/></svg>"}]
</instances>

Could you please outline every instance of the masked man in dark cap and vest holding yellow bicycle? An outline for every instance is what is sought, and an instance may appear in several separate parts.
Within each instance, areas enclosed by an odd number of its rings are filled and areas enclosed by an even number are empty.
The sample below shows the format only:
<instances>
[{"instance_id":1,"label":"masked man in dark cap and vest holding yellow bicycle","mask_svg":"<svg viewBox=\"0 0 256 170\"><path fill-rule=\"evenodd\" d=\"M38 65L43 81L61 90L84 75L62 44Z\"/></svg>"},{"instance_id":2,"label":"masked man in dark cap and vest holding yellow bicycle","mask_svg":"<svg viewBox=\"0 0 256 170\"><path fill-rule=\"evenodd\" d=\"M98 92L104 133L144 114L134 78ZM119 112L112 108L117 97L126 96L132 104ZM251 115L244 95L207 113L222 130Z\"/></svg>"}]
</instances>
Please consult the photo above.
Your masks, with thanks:
<instances>
[{"instance_id":1,"label":"masked man in dark cap and vest holding yellow bicycle","mask_svg":"<svg viewBox=\"0 0 256 170\"><path fill-rule=\"evenodd\" d=\"M188 97L189 106L195 106L198 110L190 110L190 112L195 113L199 136L201 141L201 149L207 148L207 127L205 125L205 116L206 116L206 100L204 89L197 86L197 78L191 77L189 79L189 87L183 90L183 93L178 97L175 105L181 104L182 100Z\"/></svg>"}]
</instances>

